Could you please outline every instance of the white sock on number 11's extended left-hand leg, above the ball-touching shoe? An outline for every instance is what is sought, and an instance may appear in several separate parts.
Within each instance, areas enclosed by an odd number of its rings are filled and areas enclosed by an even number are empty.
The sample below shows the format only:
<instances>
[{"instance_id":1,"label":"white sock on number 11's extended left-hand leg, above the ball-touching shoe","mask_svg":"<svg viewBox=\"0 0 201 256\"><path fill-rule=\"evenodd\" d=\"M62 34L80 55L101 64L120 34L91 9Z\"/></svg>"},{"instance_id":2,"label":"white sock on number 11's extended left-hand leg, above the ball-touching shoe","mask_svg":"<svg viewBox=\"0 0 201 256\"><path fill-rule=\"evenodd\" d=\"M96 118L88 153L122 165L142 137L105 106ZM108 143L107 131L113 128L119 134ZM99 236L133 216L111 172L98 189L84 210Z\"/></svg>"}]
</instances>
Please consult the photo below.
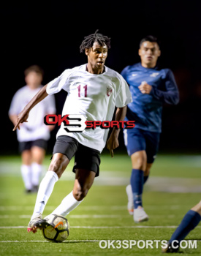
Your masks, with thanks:
<instances>
[{"instance_id":1,"label":"white sock on number 11's extended left-hand leg, above the ball-touching shoe","mask_svg":"<svg viewBox=\"0 0 201 256\"><path fill-rule=\"evenodd\" d=\"M45 205L48 202L48 199L53 192L54 184L58 181L58 176L55 172L48 170L45 174L45 177L42 179L39 184L39 191L37 195L36 204L34 207L34 213L31 217L33 219L39 214L42 214L44 211Z\"/></svg>"}]
</instances>

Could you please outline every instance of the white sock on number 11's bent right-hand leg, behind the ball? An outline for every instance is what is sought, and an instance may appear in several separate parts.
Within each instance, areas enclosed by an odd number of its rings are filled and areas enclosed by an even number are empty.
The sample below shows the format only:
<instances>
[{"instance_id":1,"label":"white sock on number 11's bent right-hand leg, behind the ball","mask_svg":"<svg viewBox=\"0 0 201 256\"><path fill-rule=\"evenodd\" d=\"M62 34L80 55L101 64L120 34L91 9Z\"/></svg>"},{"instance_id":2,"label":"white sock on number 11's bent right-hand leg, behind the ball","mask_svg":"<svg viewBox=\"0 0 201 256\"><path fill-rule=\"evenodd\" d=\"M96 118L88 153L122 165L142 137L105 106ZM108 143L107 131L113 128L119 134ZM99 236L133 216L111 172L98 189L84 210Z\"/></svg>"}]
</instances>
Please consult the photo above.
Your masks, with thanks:
<instances>
[{"instance_id":1,"label":"white sock on number 11's bent right-hand leg, behind the ball","mask_svg":"<svg viewBox=\"0 0 201 256\"><path fill-rule=\"evenodd\" d=\"M82 202L77 201L75 197L72 195L72 192L69 193L64 199L62 200L61 204L52 212L52 214L58 214L62 216L67 216L70 211L74 210L79 204Z\"/></svg>"}]
</instances>

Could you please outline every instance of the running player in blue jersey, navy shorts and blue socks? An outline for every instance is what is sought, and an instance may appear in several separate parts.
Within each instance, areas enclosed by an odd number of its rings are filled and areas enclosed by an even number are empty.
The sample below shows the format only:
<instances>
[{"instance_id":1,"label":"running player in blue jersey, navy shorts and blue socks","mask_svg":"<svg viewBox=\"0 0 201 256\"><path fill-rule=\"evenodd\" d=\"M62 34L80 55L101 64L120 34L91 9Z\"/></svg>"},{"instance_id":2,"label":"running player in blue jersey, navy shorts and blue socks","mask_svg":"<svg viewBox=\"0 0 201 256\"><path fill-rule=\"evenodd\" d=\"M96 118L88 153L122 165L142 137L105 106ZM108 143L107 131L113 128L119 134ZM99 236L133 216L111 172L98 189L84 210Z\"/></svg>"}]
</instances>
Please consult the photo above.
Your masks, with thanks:
<instances>
[{"instance_id":1,"label":"running player in blue jersey, navy shorts and blue socks","mask_svg":"<svg viewBox=\"0 0 201 256\"><path fill-rule=\"evenodd\" d=\"M134 129L124 129L124 142L132 160L132 175L126 192L128 210L133 214L134 222L148 220L142 203L143 185L158 151L163 105L179 102L172 71L156 66L160 55L158 39L145 37L140 41L140 63L127 66L121 72L132 94L132 103L127 105L126 121L135 120Z\"/></svg>"}]
</instances>

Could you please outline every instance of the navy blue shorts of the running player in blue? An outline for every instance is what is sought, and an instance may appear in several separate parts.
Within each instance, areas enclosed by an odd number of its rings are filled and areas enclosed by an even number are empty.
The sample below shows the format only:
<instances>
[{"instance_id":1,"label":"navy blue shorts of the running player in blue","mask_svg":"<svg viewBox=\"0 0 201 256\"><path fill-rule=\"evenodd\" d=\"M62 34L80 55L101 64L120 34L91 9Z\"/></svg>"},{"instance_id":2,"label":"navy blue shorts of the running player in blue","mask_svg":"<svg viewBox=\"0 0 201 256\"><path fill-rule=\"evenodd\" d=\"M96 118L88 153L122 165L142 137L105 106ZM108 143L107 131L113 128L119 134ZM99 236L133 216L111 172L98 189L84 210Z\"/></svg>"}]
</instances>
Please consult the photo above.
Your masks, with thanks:
<instances>
[{"instance_id":1,"label":"navy blue shorts of the running player in blue","mask_svg":"<svg viewBox=\"0 0 201 256\"><path fill-rule=\"evenodd\" d=\"M152 164L159 149L160 132L148 132L143 129L124 129L124 143L129 156L145 150L148 164Z\"/></svg>"}]
</instances>

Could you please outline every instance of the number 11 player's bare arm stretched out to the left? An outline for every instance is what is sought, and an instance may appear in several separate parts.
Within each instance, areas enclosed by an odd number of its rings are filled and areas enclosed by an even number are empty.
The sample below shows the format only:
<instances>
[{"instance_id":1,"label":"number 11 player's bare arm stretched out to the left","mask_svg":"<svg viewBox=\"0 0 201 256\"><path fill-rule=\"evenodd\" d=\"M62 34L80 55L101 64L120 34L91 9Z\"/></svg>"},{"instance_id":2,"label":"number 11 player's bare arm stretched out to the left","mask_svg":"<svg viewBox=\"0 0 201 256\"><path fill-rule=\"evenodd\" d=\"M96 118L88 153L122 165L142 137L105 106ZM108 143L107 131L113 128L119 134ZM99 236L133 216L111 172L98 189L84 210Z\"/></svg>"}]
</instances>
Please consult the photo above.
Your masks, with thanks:
<instances>
[{"instance_id":1,"label":"number 11 player's bare arm stretched out to the left","mask_svg":"<svg viewBox=\"0 0 201 256\"><path fill-rule=\"evenodd\" d=\"M15 127L12 129L15 131L15 129L20 129L20 123L27 122L27 119L29 117L29 112L32 108L34 108L37 103L41 102L42 99L45 99L45 97L48 96L46 92L46 88L48 85L43 86L42 89L39 90L39 92L31 99L31 101L26 105L26 107L19 113L18 115L18 121L17 124L15 124Z\"/></svg>"}]
</instances>

